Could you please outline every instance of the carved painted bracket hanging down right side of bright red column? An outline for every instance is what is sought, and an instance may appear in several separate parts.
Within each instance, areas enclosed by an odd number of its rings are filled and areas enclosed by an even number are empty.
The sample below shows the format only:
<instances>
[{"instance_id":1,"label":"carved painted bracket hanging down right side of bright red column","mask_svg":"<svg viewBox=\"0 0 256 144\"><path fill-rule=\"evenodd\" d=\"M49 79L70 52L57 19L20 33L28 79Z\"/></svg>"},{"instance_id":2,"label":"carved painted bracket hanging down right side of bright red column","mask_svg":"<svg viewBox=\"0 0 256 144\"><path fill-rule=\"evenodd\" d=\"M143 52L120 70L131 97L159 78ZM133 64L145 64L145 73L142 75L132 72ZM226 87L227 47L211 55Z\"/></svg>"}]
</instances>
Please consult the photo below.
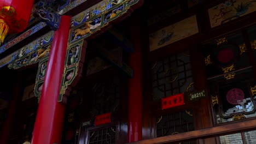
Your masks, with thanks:
<instances>
[{"instance_id":1,"label":"carved painted bracket hanging down right side of bright red column","mask_svg":"<svg viewBox=\"0 0 256 144\"><path fill-rule=\"evenodd\" d=\"M61 90L59 96L59 102L66 103L66 95L69 95L69 91L67 91L68 86L75 86L78 82L77 80L82 76L84 56L87 46L85 41L81 40L77 43L68 46L66 61L62 76L61 82ZM83 46L84 45L84 46Z\"/></svg>"}]
</instances>

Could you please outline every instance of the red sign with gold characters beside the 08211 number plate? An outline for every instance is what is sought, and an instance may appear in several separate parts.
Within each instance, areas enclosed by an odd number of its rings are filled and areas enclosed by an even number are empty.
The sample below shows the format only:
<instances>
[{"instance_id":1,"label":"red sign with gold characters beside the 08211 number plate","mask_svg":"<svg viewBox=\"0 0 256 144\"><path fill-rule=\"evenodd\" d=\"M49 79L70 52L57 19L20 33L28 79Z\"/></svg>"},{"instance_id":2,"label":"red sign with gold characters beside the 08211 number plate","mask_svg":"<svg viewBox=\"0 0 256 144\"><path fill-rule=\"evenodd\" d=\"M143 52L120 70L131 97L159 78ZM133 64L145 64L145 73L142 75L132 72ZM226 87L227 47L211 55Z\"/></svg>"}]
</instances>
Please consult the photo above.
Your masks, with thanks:
<instances>
[{"instance_id":1,"label":"red sign with gold characters beside the 08211 number plate","mask_svg":"<svg viewBox=\"0 0 256 144\"><path fill-rule=\"evenodd\" d=\"M162 110L168 109L171 107L184 105L184 94L176 94L170 97L162 98Z\"/></svg>"}]
</instances>

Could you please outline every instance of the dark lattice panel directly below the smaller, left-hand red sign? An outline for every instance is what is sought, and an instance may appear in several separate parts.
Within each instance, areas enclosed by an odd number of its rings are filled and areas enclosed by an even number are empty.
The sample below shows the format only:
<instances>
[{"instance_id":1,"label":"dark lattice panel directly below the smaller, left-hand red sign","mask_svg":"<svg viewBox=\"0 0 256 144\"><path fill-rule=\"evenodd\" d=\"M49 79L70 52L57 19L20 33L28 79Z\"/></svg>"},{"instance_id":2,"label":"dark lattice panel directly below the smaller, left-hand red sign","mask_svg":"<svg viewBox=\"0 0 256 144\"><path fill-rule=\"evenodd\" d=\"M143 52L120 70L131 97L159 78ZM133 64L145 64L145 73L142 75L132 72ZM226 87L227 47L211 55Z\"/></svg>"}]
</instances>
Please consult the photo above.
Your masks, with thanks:
<instances>
[{"instance_id":1,"label":"dark lattice panel directly below the smaller, left-hand red sign","mask_svg":"<svg viewBox=\"0 0 256 144\"><path fill-rule=\"evenodd\" d=\"M115 143L115 126L89 131L89 143L112 144Z\"/></svg>"}]
</instances>

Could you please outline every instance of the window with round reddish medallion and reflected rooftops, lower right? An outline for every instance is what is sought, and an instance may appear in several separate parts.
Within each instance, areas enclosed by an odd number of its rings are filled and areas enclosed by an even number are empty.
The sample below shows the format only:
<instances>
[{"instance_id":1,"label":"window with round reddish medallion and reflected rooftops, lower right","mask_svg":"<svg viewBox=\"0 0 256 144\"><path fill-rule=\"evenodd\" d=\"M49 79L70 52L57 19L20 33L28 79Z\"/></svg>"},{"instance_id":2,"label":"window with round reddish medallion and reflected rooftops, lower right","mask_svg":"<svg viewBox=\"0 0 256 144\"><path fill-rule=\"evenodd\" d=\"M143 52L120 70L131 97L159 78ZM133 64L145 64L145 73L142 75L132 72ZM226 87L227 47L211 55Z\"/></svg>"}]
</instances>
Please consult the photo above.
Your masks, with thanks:
<instances>
[{"instance_id":1,"label":"window with round reddish medallion and reflected rooftops, lower right","mask_svg":"<svg viewBox=\"0 0 256 144\"><path fill-rule=\"evenodd\" d=\"M229 81L222 79L210 80L211 96L217 98L213 103L215 122L225 123L255 117L255 98L252 69L240 71Z\"/></svg>"}]
</instances>

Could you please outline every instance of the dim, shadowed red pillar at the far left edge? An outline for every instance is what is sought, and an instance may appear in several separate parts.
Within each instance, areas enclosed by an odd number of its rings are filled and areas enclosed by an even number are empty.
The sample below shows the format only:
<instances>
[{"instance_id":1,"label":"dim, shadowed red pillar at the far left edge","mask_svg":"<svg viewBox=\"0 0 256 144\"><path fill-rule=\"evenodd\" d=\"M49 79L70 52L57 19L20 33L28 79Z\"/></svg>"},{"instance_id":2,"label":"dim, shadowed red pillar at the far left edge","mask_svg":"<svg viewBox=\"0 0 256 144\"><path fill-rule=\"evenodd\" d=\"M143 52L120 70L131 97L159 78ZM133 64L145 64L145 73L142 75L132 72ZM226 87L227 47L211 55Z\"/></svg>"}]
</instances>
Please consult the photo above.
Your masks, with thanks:
<instances>
[{"instance_id":1,"label":"dim, shadowed red pillar at the far left edge","mask_svg":"<svg viewBox=\"0 0 256 144\"><path fill-rule=\"evenodd\" d=\"M16 116L16 111L18 109L18 104L21 101L21 96L22 96L22 72L19 72L21 74L18 74L17 81L14 84L14 89L13 89L13 98L11 99L11 102L8 106L8 116L7 119L4 122L2 131L0 133L0 143L1 144L7 144L8 140L10 138L10 133L13 130L13 123L15 122L15 116Z\"/></svg>"}]
</instances>

